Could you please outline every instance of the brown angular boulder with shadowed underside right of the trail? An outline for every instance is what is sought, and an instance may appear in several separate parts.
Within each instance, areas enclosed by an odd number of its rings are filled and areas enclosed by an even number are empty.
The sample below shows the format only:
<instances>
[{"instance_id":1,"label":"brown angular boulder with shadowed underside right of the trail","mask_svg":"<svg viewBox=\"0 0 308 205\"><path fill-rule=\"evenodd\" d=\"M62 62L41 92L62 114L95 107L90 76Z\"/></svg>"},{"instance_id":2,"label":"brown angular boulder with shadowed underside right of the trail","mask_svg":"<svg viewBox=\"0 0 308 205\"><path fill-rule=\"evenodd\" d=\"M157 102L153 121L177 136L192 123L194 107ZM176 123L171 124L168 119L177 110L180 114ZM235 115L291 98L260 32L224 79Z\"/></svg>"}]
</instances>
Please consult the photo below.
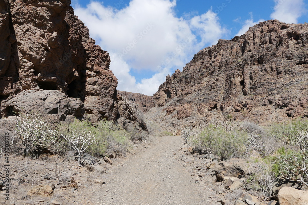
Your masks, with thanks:
<instances>
[{"instance_id":1,"label":"brown angular boulder with shadowed underside right of the trail","mask_svg":"<svg viewBox=\"0 0 308 205\"><path fill-rule=\"evenodd\" d=\"M248 164L244 159L233 158L221 161L213 167L217 181L223 181L225 176L243 178L248 174Z\"/></svg>"}]
</instances>

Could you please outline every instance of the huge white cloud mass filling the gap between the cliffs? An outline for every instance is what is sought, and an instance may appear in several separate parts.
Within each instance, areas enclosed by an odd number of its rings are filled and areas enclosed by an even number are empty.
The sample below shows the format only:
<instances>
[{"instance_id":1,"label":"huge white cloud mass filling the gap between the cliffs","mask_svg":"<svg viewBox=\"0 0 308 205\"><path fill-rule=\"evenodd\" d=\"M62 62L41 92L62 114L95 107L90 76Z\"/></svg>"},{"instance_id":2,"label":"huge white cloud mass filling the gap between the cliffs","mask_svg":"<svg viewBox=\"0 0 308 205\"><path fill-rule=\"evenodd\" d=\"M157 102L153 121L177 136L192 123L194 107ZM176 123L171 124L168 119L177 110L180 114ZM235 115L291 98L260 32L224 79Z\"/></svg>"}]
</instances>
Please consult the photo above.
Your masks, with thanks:
<instances>
[{"instance_id":1,"label":"huge white cloud mass filling the gap between the cliffs","mask_svg":"<svg viewBox=\"0 0 308 205\"><path fill-rule=\"evenodd\" d=\"M74 10L90 35L111 55L111 70L118 90L154 94L165 76L182 69L205 46L217 43L226 33L212 11L191 18L178 18L176 1L131 0L121 10L92 1ZM131 69L156 74L136 83Z\"/></svg>"}]
</instances>

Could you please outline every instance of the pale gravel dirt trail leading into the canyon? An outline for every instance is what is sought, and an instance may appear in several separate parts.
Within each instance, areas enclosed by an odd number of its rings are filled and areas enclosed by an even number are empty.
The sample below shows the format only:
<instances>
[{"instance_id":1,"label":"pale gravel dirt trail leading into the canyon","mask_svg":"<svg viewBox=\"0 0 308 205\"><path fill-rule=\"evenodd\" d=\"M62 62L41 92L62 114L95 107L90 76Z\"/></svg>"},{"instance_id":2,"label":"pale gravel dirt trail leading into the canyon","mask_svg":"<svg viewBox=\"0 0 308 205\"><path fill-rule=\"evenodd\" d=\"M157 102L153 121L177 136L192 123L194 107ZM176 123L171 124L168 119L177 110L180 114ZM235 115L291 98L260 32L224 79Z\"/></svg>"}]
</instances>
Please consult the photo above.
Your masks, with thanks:
<instances>
[{"instance_id":1,"label":"pale gravel dirt trail leading into the canyon","mask_svg":"<svg viewBox=\"0 0 308 205\"><path fill-rule=\"evenodd\" d=\"M220 204L206 186L210 176L197 184L175 159L182 143L179 136L164 136L157 145L123 160L101 189L97 204Z\"/></svg>"}]
</instances>

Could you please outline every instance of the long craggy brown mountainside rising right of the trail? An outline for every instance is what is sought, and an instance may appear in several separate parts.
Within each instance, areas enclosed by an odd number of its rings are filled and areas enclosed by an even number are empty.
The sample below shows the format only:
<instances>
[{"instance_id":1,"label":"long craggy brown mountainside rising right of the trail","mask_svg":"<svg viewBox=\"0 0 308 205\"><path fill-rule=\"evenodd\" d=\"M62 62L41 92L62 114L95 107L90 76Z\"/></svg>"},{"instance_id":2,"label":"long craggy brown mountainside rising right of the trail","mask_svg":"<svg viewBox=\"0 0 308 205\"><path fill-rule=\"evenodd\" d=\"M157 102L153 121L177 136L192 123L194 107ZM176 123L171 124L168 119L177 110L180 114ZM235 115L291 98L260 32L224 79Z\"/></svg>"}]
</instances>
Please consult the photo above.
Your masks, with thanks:
<instances>
[{"instance_id":1,"label":"long craggy brown mountainside rising right of the trail","mask_svg":"<svg viewBox=\"0 0 308 205\"><path fill-rule=\"evenodd\" d=\"M227 116L255 122L308 116L308 24L261 22L219 40L160 85L161 124ZM170 121L172 123L170 124Z\"/></svg>"}]
</instances>

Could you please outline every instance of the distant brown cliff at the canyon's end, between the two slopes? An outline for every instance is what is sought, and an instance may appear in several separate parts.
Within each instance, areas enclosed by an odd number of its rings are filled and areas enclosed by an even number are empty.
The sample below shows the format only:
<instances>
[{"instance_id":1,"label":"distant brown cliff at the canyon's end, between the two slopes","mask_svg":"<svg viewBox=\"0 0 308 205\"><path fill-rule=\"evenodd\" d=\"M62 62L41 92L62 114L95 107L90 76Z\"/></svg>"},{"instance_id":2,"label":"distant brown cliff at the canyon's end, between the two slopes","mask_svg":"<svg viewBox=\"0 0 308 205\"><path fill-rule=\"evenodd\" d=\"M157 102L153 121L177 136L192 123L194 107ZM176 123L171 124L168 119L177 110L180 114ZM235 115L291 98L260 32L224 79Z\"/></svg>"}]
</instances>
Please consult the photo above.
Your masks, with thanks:
<instances>
[{"instance_id":1,"label":"distant brown cliff at the canyon's end, between the two slopes","mask_svg":"<svg viewBox=\"0 0 308 205\"><path fill-rule=\"evenodd\" d=\"M138 108L144 113L147 113L151 108L155 107L153 96L125 91L118 91L118 94L125 97L128 101L137 104Z\"/></svg>"}]
</instances>

